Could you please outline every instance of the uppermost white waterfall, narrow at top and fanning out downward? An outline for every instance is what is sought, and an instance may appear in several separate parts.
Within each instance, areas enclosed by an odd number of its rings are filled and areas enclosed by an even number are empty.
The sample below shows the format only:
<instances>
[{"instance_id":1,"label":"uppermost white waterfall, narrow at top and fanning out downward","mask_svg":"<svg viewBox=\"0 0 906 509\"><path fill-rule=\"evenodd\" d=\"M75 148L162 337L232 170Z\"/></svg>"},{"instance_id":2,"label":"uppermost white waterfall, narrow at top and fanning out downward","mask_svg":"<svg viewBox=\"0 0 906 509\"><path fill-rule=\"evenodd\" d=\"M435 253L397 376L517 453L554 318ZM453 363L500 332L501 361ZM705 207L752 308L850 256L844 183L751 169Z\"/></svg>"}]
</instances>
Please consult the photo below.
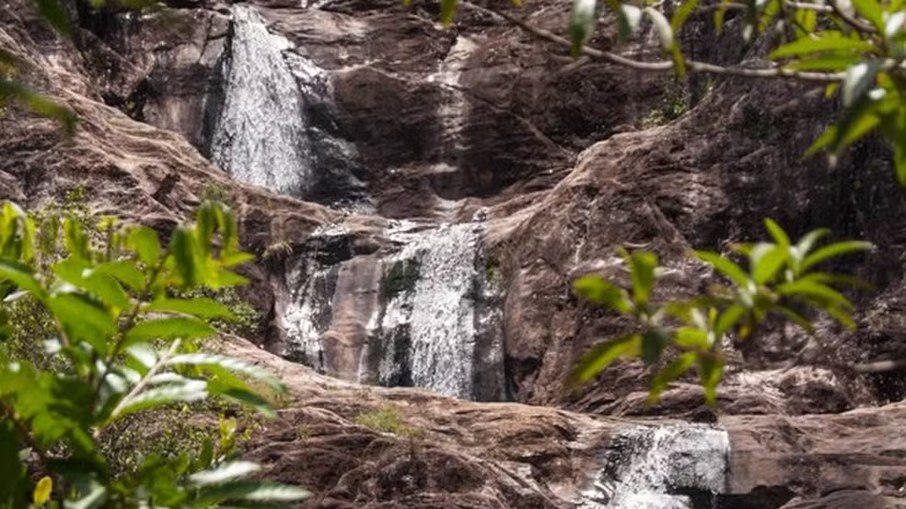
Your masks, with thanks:
<instances>
[{"instance_id":1,"label":"uppermost white waterfall, narrow at top and fanning out downward","mask_svg":"<svg viewBox=\"0 0 906 509\"><path fill-rule=\"evenodd\" d=\"M221 60L222 104L211 129L212 161L235 180L301 195L311 177L305 111L288 40L250 7L234 6Z\"/></svg>"}]
</instances>

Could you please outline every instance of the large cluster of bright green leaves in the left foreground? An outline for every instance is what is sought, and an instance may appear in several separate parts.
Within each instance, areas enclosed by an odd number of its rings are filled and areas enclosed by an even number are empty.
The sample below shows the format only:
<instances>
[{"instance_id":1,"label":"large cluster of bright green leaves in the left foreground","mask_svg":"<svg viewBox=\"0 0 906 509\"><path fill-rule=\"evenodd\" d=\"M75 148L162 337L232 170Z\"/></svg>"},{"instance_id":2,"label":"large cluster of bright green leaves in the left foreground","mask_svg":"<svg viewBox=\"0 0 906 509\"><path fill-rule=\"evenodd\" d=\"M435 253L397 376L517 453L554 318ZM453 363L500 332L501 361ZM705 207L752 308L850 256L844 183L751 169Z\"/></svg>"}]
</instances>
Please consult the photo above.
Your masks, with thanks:
<instances>
[{"instance_id":1,"label":"large cluster of bright green leaves in the left foreground","mask_svg":"<svg viewBox=\"0 0 906 509\"><path fill-rule=\"evenodd\" d=\"M259 467L233 460L229 419L221 440L203 438L194 451L119 466L104 455L123 445L130 418L209 397L274 415L254 384L284 389L257 367L199 350L215 332L209 320L229 319L229 309L172 296L244 282L231 268L249 256L227 208L204 203L166 247L146 227L102 228L97 242L77 218L38 228L15 204L0 208L0 506L241 508L305 496L249 479ZM17 325L10 307L22 299L52 318L30 338L43 364L5 348Z\"/></svg>"}]
</instances>

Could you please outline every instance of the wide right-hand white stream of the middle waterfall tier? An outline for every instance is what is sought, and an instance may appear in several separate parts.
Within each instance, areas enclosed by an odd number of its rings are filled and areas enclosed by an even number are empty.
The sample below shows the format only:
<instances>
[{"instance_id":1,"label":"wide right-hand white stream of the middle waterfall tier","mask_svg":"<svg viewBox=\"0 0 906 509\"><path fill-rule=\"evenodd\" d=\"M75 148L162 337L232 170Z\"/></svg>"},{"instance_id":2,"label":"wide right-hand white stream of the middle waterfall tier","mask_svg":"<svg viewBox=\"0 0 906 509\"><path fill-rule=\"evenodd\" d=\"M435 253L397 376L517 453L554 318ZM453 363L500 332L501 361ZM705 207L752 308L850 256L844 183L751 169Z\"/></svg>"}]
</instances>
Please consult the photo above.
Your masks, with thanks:
<instances>
[{"instance_id":1,"label":"wide right-hand white stream of the middle waterfall tier","mask_svg":"<svg viewBox=\"0 0 906 509\"><path fill-rule=\"evenodd\" d=\"M476 257L483 223L425 230L397 223L390 237L403 245L388 260L388 297L380 327L408 349L412 384L447 396L472 396L476 343ZM401 342L399 335L405 336ZM386 348L383 380L399 368L398 348Z\"/></svg>"}]
</instances>

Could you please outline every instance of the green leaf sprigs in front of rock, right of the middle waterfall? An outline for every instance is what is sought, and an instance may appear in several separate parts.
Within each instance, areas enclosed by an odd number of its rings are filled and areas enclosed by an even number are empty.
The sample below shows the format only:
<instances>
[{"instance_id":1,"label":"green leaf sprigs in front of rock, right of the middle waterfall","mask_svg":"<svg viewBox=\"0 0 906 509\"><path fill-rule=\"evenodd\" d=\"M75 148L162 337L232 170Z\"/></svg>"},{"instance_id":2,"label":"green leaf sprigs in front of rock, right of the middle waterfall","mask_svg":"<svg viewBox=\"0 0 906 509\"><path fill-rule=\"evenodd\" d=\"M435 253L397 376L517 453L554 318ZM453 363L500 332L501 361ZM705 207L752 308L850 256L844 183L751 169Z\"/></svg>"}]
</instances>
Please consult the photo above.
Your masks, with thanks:
<instances>
[{"instance_id":1,"label":"green leaf sprigs in front of rock, right of the middle waterfall","mask_svg":"<svg viewBox=\"0 0 906 509\"><path fill-rule=\"evenodd\" d=\"M808 333L814 333L810 318L815 313L854 327L850 315L853 305L840 288L860 282L816 268L840 256L871 249L871 244L845 241L817 247L830 233L825 229L811 231L793 243L774 221L765 220L765 225L773 242L733 247L734 254L748 261L747 270L732 256L695 252L698 260L723 278L702 295L657 301L657 279L664 269L658 265L657 255L646 251L621 250L630 269L629 290L597 275L577 280L579 295L632 318L637 327L590 350L576 369L576 378L588 381L618 359L640 358L655 368L649 392L650 402L655 402L670 382L695 368L706 400L713 405L724 373L728 338L751 338L770 315L792 321ZM673 354L672 359L664 363L668 352Z\"/></svg>"}]
</instances>

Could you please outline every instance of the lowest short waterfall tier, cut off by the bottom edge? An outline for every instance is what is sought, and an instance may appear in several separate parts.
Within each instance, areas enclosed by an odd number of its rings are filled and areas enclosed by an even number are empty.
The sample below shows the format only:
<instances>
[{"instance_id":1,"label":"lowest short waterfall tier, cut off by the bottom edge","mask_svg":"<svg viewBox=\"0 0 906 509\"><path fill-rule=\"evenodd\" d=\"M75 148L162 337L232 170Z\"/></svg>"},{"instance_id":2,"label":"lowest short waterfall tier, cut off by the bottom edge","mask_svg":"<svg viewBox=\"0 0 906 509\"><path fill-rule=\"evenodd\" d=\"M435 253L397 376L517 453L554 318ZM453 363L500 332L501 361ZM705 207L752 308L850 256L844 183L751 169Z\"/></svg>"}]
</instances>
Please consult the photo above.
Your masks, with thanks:
<instances>
[{"instance_id":1,"label":"lowest short waterfall tier, cut off by the bottom edge","mask_svg":"<svg viewBox=\"0 0 906 509\"><path fill-rule=\"evenodd\" d=\"M727 432L679 424L631 428L613 437L580 509L710 509L725 490Z\"/></svg>"}]
</instances>

